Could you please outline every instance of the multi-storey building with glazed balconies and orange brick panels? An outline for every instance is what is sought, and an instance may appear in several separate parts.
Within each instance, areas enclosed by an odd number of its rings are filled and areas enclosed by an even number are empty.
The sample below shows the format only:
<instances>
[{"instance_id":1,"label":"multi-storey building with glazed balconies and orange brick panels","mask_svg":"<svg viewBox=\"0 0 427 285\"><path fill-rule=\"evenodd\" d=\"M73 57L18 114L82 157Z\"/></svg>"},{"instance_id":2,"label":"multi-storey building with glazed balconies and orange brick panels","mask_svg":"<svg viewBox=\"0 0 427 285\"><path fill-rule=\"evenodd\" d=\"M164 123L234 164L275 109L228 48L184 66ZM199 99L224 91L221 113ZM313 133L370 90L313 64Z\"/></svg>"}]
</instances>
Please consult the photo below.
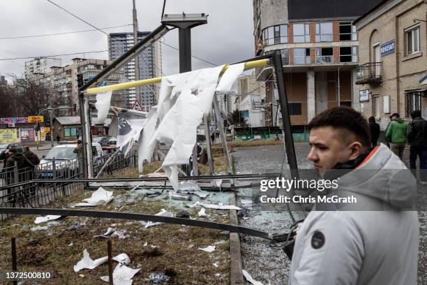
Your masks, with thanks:
<instances>
[{"instance_id":1,"label":"multi-storey building with glazed balconies and orange brick panels","mask_svg":"<svg viewBox=\"0 0 427 285\"><path fill-rule=\"evenodd\" d=\"M359 110L359 39L354 20L380 0L254 0L255 55L280 53L292 128L338 105ZM257 68L276 104L273 68ZM280 114L279 114L280 115ZM273 122L273 121L271 121Z\"/></svg>"}]
</instances>

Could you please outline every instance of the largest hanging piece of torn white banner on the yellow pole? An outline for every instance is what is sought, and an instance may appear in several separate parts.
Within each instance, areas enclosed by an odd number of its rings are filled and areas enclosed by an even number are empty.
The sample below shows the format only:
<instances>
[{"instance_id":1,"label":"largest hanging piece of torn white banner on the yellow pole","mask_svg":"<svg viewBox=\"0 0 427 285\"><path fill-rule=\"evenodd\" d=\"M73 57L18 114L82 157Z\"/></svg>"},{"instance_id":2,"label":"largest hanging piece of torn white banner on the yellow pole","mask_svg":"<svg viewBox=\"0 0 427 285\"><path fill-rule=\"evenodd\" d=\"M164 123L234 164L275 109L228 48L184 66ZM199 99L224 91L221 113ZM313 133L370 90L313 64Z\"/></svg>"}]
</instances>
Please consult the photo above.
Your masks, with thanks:
<instances>
[{"instance_id":1,"label":"largest hanging piece of torn white banner on the yellow pole","mask_svg":"<svg viewBox=\"0 0 427 285\"><path fill-rule=\"evenodd\" d=\"M229 66L218 83L224 66L180 73L162 78L156 110L149 113L142 131L138 165L150 161L156 141L171 144L163 161L163 169L174 187L179 189L178 166L187 164L197 138L197 126L211 109L213 95L229 92L234 81L244 71L244 64Z\"/></svg>"}]
</instances>

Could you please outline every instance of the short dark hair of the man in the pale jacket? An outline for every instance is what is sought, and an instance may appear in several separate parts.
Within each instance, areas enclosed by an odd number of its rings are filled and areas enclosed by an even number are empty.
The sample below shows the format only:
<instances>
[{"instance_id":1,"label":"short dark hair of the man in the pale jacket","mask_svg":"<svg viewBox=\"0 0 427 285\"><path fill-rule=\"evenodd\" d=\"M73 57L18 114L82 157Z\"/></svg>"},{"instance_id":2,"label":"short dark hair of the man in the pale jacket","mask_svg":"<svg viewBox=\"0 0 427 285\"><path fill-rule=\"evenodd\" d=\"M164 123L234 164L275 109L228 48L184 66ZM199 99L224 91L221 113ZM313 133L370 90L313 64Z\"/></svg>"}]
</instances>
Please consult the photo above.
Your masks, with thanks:
<instances>
[{"instance_id":1,"label":"short dark hair of the man in the pale jacket","mask_svg":"<svg viewBox=\"0 0 427 285\"><path fill-rule=\"evenodd\" d=\"M369 124L360 112L350 107L336 107L321 112L315 116L310 124L308 131L314 128L331 126L334 129L344 129L354 133L359 142L365 147L370 145Z\"/></svg>"}]
</instances>

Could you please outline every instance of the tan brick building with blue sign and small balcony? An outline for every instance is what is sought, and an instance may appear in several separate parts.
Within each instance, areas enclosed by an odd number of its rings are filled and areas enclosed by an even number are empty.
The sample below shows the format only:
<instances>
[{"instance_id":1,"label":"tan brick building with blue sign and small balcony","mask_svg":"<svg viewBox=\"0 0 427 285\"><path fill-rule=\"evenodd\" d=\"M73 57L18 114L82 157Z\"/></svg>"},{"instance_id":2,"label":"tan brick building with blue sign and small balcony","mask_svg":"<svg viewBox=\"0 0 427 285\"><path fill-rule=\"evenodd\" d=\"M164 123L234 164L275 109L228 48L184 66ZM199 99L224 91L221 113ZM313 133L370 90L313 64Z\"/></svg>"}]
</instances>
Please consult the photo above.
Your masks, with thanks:
<instances>
[{"instance_id":1,"label":"tan brick building with blue sign and small balcony","mask_svg":"<svg viewBox=\"0 0 427 285\"><path fill-rule=\"evenodd\" d=\"M361 111L384 130L389 115L427 117L427 1L387 0L357 19Z\"/></svg>"}]
</instances>

